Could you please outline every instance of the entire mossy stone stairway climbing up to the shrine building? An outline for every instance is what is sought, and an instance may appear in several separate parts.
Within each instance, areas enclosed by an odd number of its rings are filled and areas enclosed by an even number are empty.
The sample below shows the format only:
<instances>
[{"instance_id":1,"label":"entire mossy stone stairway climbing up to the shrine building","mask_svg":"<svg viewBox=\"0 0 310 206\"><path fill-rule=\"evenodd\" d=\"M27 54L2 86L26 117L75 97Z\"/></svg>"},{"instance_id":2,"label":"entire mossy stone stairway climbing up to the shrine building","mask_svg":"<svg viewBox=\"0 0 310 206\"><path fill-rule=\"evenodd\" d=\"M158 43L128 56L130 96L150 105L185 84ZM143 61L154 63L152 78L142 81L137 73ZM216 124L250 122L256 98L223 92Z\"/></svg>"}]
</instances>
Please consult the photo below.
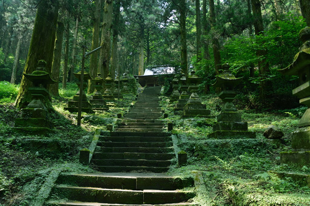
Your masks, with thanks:
<instances>
[{"instance_id":1,"label":"entire mossy stone stairway climbing up to the shrine building","mask_svg":"<svg viewBox=\"0 0 310 206\"><path fill-rule=\"evenodd\" d=\"M167 176L175 157L158 103L161 87L146 87L110 136L102 133L91 164L99 172L62 173L47 205L189 206L193 179ZM139 171L137 173L137 171Z\"/></svg>"}]
</instances>

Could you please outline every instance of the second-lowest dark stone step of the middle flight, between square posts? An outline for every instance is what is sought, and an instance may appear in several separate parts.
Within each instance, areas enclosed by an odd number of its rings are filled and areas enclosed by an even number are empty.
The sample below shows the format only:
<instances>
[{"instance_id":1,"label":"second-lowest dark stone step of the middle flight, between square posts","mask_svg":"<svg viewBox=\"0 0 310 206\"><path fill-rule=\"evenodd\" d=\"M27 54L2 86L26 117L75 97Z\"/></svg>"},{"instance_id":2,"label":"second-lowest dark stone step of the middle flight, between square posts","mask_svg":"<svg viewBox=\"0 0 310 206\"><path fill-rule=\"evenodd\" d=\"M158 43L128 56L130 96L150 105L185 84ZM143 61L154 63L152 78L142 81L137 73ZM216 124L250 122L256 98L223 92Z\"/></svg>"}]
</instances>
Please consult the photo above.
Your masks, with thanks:
<instances>
[{"instance_id":1,"label":"second-lowest dark stone step of the middle flight, between square posts","mask_svg":"<svg viewBox=\"0 0 310 206\"><path fill-rule=\"evenodd\" d=\"M144 159L92 159L96 166L146 166L169 167L170 160L144 160Z\"/></svg>"}]
</instances>

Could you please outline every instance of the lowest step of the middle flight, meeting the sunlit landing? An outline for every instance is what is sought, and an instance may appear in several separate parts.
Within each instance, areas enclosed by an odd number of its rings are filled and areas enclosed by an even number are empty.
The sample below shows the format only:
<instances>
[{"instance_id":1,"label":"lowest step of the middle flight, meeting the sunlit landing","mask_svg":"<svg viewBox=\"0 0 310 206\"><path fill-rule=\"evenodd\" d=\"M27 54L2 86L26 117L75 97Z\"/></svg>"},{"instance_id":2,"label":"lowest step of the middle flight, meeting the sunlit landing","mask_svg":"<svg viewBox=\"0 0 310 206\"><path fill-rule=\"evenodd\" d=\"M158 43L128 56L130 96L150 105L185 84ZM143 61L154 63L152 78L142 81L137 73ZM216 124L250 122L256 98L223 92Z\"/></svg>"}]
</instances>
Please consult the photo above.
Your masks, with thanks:
<instances>
[{"instance_id":1,"label":"lowest step of the middle flight, meeting the sunlit landing","mask_svg":"<svg viewBox=\"0 0 310 206\"><path fill-rule=\"evenodd\" d=\"M97 166L100 172L132 172L132 171L148 171L148 172L167 172L168 167L146 167L146 166Z\"/></svg>"}]
</instances>

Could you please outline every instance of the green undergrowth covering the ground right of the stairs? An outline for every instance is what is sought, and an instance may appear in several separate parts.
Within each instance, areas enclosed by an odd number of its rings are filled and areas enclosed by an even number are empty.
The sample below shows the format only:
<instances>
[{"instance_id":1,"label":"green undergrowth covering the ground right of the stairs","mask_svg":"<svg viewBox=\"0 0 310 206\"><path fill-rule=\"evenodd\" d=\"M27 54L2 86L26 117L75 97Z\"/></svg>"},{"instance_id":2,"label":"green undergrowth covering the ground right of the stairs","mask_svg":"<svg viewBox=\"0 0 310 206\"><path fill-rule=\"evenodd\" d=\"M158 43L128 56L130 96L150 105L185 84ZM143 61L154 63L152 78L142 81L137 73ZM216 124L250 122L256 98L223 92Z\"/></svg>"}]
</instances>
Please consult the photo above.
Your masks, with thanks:
<instances>
[{"instance_id":1,"label":"green undergrowth covering the ground right of the stairs","mask_svg":"<svg viewBox=\"0 0 310 206\"><path fill-rule=\"evenodd\" d=\"M249 131L256 132L256 139L217 140L208 138L223 106L216 94L201 95L202 103L211 111L210 118L181 119L180 112L173 112L174 104L168 104L168 99L162 96L160 102L168 113L166 121L173 122L176 144L188 153L188 165L174 166L168 173L196 180L197 196L193 202L200 205L310 205L309 187L276 175L292 170L309 174L310 169L305 166L290 168L280 164L279 154L290 151L290 133L297 128L305 107L276 111L240 107L242 120L248 122ZM281 140L263 137L271 124L284 132ZM199 177L203 184L199 184Z\"/></svg>"}]
</instances>

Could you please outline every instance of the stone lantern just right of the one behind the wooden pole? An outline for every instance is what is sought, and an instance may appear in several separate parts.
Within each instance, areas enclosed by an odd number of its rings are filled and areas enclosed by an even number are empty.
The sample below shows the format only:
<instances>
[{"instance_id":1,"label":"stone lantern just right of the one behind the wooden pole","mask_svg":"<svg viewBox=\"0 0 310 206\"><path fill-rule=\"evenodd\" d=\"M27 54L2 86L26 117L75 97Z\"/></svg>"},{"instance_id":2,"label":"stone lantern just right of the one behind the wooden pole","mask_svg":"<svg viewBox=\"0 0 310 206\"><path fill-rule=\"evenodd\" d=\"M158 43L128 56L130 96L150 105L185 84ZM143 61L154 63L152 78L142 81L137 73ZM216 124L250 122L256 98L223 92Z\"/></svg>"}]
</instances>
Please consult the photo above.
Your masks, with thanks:
<instances>
[{"instance_id":1,"label":"stone lantern just right of the one behind the wooden pole","mask_svg":"<svg viewBox=\"0 0 310 206\"><path fill-rule=\"evenodd\" d=\"M98 73L97 77L92 79L92 81L94 82L95 94L93 95L93 99L89 100L89 103L91 103L94 110L107 111L108 108L104 108L107 103L102 96L102 90L105 83L104 79L101 77L101 74Z\"/></svg>"}]
</instances>

